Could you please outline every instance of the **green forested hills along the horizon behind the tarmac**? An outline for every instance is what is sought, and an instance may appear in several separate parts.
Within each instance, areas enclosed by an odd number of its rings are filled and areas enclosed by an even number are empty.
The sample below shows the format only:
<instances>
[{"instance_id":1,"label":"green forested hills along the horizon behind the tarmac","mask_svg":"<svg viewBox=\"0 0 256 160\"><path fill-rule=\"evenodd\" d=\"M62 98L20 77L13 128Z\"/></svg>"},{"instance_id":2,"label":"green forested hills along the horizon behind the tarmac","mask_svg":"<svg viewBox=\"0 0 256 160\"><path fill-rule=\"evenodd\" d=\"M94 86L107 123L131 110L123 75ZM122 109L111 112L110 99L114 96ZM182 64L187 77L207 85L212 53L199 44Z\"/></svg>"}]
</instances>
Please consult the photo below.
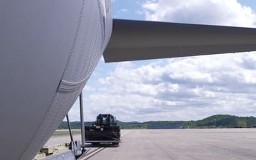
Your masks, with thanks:
<instances>
[{"instance_id":1,"label":"green forested hills along the horizon behind the tarmac","mask_svg":"<svg viewBox=\"0 0 256 160\"><path fill-rule=\"evenodd\" d=\"M70 122L72 129L80 129L80 122ZM146 129L146 128L235 128L256 127L255 117L238 117L228 114L217 114L197 121L149 121L149 122L121 122L117 124L122 129ZM85 122L85 126L92 122ZM68 123L62 122L58 129L68 129Z\"/></svg>"}]
</instances>

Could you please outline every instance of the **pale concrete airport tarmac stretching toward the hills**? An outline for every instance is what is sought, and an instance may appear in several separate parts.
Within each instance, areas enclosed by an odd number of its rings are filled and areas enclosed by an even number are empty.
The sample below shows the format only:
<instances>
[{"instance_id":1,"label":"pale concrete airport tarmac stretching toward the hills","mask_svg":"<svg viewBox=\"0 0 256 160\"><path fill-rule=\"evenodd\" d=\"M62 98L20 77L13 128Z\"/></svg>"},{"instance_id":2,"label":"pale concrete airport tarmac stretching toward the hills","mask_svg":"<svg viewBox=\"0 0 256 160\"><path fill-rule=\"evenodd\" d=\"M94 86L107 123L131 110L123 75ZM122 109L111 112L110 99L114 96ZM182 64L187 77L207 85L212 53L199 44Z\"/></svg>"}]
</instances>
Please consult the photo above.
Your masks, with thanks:
<instances>
[{"instance_id":1,"label":"pale concrete airport tarmac stretching toward the hills","mask_svg":"<svg viewBox=\"0 0 256 160\"><path fill-rule=\"evenodd\" d=\"M122 129L119 146L90 147L85 159L256 159L256 129Z\"/></svg>"}]
</instances>

